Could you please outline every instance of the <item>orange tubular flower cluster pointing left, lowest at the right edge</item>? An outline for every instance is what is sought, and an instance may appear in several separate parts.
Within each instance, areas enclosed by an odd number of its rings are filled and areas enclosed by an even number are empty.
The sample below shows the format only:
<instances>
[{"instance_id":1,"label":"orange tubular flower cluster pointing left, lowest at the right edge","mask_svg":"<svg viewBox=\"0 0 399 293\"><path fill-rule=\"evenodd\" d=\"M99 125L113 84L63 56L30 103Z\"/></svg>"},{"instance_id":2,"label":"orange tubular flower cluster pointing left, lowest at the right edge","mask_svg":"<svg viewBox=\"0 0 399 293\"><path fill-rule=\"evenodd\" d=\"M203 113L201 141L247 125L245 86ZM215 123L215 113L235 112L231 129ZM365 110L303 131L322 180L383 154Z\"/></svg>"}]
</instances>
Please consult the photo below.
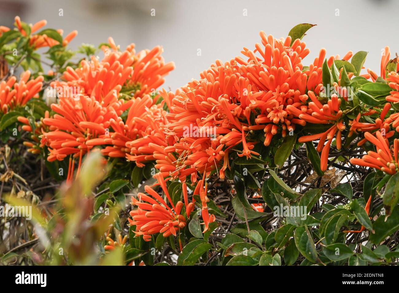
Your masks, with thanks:
<instances>
[{"instance_id":1,"label":"orange tubular flower cluster pointing left, lowest at the right edge","mask_svg":"<svg viewBox=\"0 0 399 293\"><path fill-rule=\"evenodd\" d=\"M379 169L389 175L395 174L398 171L399 140L395 138L393 147L390 148L388 140L383 138L379 130L375 132L375 136L369 132L366 132L364 136L375 146L377 152L368 151L367 155L363 155L361 159L350 159L350 163Z\"/></svg>"}]
</instances>

